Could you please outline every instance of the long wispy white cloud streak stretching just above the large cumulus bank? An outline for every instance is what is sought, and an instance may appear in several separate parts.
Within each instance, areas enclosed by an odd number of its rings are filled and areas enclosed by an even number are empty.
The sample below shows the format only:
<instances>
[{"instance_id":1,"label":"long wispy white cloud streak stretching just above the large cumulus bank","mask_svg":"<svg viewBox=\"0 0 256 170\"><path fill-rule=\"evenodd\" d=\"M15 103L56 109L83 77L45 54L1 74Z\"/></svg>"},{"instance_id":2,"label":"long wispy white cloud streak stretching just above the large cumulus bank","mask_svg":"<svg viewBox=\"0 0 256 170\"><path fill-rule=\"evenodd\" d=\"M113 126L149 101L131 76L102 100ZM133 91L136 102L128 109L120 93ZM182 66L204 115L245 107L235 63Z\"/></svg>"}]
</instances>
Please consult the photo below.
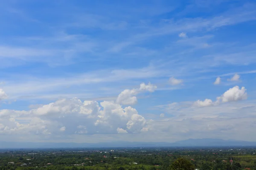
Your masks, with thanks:
<instances>
[{"instance_id":1,"label":"long wispy white cloud streak stretching just above the large cumulus bank","mask_svg":"<svg viewBox=\"0 0 256 170\"><path fill-rule=\"evenodd\" d=\"M58 98L60 96L75 96L76 92L72 94L56 93L61 89L73 89L73 87L84 87L84 85L90 87L94 85L95 91L99 91L102 88L99 85L103 85L111 82L120 82L122 80L138 80L145 78L154 78L154 77L166 77L168 72L163 74L163 71L154 68L146 67L140 69L128 69L128 70L102 70L89 72L86 74L80 75L71 75L70 77L58 77L58 78L43 78L39 79L36 77L16 77L17 79L13 82L10 79L6 79L4 85L5 91L10 94L10 97L18 96L30 96L35 98L41 98L43 96L49 96L49 93L54 93L51 96ZM26 81L23 81L26 79ZM95 86L97 85L97 86ZM98 87L98 88L97 88ZM91 88L91 87L90 87ZM97 89L97 90L96 90ZM103 90L103 89L102 89ZM102 91L100 90L100 91ZM107 91L109 91L107 89ZM89 90L84 91L85 94L91 94ZM43 95L43 96L42 96ZM80 95L79 95L80 96ZM87 96L91 98L92 96ZM99 96L98 96L99 97Z\"/></svg>"}]
</instances>

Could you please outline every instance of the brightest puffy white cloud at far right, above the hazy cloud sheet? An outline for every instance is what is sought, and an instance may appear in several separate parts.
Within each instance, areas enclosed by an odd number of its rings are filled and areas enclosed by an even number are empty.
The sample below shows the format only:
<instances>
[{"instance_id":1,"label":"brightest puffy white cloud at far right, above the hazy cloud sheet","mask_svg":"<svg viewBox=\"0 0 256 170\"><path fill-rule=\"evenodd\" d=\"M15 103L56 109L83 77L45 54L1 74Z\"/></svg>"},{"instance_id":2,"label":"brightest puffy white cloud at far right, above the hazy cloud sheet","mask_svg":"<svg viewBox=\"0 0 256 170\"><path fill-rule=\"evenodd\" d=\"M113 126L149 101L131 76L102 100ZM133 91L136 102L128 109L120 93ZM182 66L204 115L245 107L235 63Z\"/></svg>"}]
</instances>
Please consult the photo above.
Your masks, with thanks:
<instances>
[{"instance_id":1,"label":"brightest puffy white cloud at far right, above the hazy cloud sheet","mask_svg":"<svg viewBox=\"0 0 256 170\"><path fill-rule=\"evenodd\" d=\"M220 97L217 97L217 101L221 102L231 102L244 99L247 99L246 89L244 87L241 87L241 89L239 89L239 86L230 88Z\"/></svg>"}]
</instances>

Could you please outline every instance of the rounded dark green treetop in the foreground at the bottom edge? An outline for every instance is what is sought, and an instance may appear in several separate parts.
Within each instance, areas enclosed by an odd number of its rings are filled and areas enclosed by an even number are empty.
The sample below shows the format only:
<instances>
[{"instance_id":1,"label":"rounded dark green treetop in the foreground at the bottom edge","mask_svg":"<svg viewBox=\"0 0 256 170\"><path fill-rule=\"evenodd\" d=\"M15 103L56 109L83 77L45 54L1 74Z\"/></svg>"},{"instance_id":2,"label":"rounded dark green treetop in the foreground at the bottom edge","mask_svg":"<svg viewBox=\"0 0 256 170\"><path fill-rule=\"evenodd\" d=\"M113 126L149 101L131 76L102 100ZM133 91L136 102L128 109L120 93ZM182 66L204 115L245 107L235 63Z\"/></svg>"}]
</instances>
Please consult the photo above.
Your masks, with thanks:
<instances>
[{"instance_id":1,"label":"rounded dark green treetop in the foreground at the bottom edge","mask_svg":"<svg viewBox=\"0 0 256 170\"><path fill-rule=\"evenodd\" d=\"M169 170L195 170L195 166L185 158L178 158L169 166Z\"/></svg>"}]
</instances>

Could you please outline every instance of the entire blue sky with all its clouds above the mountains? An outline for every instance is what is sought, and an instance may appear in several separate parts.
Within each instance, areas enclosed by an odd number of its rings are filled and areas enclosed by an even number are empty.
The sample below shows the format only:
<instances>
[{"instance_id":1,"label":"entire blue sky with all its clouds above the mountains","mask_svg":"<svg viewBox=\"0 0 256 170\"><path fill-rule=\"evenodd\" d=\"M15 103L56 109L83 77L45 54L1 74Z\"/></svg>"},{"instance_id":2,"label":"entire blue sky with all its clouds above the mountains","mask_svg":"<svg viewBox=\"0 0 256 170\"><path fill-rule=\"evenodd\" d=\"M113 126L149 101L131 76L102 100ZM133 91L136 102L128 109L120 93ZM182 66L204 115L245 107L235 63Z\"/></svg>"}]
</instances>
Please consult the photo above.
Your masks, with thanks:
<instances>
[{"instance_id":1,"label":"entire blue sky with all its clouds above the mountains","mask_svg":"<svg viewBox=\"0 0 256 170\"><path fill-rule=\"evenodd\" d=\"M255 9L253 0L1 2L1 140L256 141Z\"/></svg>"}]
</instances>

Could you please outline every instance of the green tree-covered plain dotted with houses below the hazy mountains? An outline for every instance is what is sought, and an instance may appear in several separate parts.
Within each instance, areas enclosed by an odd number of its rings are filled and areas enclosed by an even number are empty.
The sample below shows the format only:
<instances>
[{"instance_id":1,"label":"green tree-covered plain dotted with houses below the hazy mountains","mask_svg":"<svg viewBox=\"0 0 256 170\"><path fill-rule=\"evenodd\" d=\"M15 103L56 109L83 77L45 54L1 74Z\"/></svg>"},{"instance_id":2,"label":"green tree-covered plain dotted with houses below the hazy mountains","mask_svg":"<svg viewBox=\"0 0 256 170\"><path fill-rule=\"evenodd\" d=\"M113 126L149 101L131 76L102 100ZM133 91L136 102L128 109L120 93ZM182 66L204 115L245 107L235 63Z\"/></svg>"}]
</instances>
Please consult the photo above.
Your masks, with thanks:
<instances>
[{"instance_id":1,"label":"green tree-covered plain dotted with houses below the hazy mountains","mask_svg":"<svg viewBox=\"0 0 256 170\"><path fill-rule=\"evenodd\" d=\"M0 170L256 170L256 148L0 150Z\"/></svg>"}]
</instances>

